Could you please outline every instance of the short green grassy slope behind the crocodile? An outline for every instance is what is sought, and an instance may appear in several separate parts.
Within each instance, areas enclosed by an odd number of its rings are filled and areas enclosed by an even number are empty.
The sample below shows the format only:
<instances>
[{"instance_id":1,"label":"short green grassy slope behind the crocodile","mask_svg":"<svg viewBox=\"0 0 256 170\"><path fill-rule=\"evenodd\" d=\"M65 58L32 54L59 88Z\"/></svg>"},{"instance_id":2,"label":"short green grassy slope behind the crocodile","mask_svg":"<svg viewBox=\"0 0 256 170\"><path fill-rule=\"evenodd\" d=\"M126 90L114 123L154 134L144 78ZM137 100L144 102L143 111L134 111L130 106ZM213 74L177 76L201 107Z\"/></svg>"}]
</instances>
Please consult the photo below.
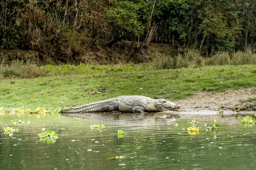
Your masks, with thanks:
<instances>
[{"instance_id":1,"label":"short green grassy slope behind the crocodile","mask_svg":"<svg viewBox=\"0 0 256 170\"><path fill-rule=\"evenodd\" d=\"M196 91L255 87L256 73L252 71L255 68L256 65L207 66L0 80L0 107L55 109L120 95L151 98L163 95L169 100L183 99Z\"/></svg>"}]
</instances>

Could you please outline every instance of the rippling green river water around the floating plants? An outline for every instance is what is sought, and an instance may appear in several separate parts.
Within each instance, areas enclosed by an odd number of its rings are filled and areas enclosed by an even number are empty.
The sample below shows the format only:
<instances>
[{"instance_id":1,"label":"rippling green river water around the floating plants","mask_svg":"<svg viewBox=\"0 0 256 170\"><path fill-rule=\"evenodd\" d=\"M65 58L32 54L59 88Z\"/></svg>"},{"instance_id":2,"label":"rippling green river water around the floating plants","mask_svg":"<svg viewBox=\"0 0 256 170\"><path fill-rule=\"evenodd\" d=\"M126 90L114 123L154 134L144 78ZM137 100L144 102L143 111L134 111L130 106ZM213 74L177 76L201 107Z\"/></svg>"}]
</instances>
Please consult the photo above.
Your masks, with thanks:
<instances>
[{"instance_id":1,"label":"rippling green river water around the floating plants","mask_svg":"<svg viewBox=\"0 0 256 170\"><path fill-rule=\"evenodd\" d=\"M166 114L85 114L36 118L0 115L0 170L249 170L256 165L256 127L236 117ZM187 133L196 117L200 134ZM215 117L221 130L204 130ZM30 124L13 122L23 120ZM209 121L211 120L211 121ZM102 123L102 130L90 125ZM175 125L175 124L178 124ZM3 127L18 128L13 136ZM42 128L54 130L55 143L38 141ZM117 131L125 137L118 138ZM91 150L91 151L88 151ZM111 156L125 156L108 160Z\"/></svg>"}]
</instances>

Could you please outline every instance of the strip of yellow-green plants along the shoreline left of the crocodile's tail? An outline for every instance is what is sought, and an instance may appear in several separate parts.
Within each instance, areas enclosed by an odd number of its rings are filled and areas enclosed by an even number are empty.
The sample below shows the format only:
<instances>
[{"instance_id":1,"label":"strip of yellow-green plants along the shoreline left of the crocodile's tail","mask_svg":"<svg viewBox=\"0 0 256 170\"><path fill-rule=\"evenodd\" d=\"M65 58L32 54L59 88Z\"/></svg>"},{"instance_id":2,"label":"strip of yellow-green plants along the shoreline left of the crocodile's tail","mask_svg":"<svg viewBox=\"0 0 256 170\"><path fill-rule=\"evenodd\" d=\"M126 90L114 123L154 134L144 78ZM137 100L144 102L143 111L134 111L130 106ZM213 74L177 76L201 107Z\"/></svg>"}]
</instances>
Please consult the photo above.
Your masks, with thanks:
<instances>
[{"instance_id":1,"label":"strip of yellow-green plants along the shoreline left of the crocodile's tail","mask_svg":"<svg viewBox=\"0 0 256 170\"><path fill-rule=\"evenodd\" d=\"M57 109L52 109L52 110L47 110L44 107L37 107L36 109L27 109L24 107L19 107L17 109L12 108L12 109L4 109L4 107L0 107L0 115L17 115L18 117L21 117L22 115L25 114L37 114L40 116L45 117L45 115L58 115L61 112L60 108Z\"/></svg>"}]
</instances>

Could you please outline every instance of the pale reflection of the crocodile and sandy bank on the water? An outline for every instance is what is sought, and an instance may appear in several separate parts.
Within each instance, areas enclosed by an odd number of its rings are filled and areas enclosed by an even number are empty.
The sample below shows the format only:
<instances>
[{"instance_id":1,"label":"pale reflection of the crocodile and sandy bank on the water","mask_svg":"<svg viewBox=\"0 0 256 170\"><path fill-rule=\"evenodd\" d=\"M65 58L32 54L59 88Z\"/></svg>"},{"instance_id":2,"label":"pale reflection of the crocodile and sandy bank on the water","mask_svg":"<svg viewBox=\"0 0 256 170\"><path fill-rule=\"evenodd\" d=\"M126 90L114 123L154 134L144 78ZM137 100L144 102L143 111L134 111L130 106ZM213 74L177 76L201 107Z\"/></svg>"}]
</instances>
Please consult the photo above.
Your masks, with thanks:
<instances>
[{"instance_id":1,"label":"pale reflection of the crocodile and sandy bank on the water","mask_svg":"<svg viewBox=\"0 0 256 170\"><path fill-rule=\"evenodd\" d=\"M173 124L175 121L179 120L192 120L197 118L198 122L209 122L214 118L218 119L219 124L240 124L240 119L242 116L236 116L233 114L226 115L209 115L209 114L182 114L180 112L168 113L168 112L158 112L158 113L121 113L113 114L111 112L96 112L96 113L63 113L62 115L71 118L80 118L88 121L98 121L98 122L113 122L115 124L123 125L133 125L138 123L140 125L147 126L148 124L155 124L157 121L162 120L166 123Z\"/></svg>"}]
</instances>

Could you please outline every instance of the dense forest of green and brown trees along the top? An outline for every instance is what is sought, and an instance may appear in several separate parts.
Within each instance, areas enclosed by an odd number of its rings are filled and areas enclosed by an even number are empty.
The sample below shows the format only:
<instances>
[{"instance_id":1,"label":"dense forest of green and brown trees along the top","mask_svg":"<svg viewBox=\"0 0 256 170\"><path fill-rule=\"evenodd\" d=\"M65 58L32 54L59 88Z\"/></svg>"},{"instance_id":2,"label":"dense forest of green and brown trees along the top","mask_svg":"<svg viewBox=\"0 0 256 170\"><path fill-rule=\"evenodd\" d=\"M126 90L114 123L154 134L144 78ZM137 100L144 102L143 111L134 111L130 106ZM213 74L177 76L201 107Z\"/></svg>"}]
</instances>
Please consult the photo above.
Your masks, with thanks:
<instances>
[{"instance_id":1,"label":"dense forest of green and brown trees along the top","mask_svg":"<svg viewBox=\"0 0 256 170\"><path fill-rule=\"evenodd\" d=\"M1 0L0 46L64 61L96 40L112 50L130 41L133 55L150 42L206 56L254 52L255 17L255 0Z\"/></svg>"}]
</instances>

